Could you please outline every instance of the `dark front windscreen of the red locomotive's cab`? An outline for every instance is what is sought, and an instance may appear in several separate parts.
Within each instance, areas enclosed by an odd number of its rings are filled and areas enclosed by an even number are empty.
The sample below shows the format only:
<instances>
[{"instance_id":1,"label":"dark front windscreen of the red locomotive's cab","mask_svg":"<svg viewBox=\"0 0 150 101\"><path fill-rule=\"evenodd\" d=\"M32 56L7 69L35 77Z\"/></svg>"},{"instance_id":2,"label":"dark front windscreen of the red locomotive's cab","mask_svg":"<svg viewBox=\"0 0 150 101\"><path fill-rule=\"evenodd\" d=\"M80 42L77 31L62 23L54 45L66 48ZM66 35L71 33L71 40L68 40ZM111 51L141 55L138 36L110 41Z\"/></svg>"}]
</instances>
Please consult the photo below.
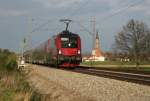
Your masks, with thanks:
<instances>
[{"instance_id":1,"label":"dark front windscreen of the red locomotive's cab","mask_svg":"<svg viewBox=\"0 0 150 101\"><path fill-rule=\"evenodd\" d=\"M77 48L77 38L75 37L62 37L61 38L62 48Z\"/></svg>"}]
</instances>

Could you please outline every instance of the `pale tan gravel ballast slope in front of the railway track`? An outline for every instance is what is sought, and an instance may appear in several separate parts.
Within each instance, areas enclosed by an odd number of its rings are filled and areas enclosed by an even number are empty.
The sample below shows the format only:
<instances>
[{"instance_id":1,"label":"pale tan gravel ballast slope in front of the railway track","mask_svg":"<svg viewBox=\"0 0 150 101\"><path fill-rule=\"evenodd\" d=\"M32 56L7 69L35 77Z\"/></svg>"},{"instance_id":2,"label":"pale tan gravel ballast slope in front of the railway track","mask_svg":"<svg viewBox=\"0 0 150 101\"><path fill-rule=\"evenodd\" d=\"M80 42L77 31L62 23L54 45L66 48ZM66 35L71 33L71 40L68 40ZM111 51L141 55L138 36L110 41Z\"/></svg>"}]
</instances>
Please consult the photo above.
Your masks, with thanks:
<instances>
[{"instance_id":1,"label":"pale tan gravel ballast slope in front of the railway track","mask_svg":"<svg viewBox=\"0 0 150 101\"><path fill-rule=\"evenodd\" d=\"M57 101L150 101L150 86L44 66L28 67L32 85L51 96L56 93Z\"/></svg>"}]
</instances>

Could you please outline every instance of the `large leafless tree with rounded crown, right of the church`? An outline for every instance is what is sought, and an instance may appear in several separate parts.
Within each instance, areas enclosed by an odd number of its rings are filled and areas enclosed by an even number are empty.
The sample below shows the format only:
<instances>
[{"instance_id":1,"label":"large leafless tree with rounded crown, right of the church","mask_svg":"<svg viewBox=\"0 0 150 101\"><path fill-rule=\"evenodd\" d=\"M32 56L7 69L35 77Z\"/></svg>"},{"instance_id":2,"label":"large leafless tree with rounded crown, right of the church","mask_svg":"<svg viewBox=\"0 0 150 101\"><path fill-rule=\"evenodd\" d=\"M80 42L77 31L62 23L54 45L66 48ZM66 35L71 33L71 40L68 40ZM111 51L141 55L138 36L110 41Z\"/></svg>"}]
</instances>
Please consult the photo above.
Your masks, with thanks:
<instances>
[{"instance_id":1,"label":"large leafless tree with rounded crown, right of the church","mask_svg":"<svg viewBox=\"0 0 150 101\"><path fill-rule=\"evenodd\" d=\"M136 64L150 52L150 31L147 25L133 19L115 36L117 52L129 54ZM146 57L144 57L146 59Z\"/></svg>"}]
</instances>

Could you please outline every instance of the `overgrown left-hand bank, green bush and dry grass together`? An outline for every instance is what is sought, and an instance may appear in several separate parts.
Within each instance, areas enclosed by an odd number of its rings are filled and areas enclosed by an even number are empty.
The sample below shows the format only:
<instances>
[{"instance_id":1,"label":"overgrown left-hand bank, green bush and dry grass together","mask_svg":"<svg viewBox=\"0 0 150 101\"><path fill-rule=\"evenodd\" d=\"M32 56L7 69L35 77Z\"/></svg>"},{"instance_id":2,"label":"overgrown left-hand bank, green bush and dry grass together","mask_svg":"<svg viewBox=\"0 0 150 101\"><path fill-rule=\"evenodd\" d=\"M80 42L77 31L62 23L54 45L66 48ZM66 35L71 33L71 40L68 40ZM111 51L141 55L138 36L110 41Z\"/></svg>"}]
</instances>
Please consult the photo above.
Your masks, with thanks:
<instances>
[{"instance_id":1,"label":"overgrown left-hand bank, green bush and dry grass together","mask_svg":"<svg viewBox=\"0 0 150 101\"><path fill-rule=\"evenodd\" d=\"M16 55L0 49L0 101L41 101L42 95L33 91L24 73L17 70Z\"/></svg>"}]
</instances>

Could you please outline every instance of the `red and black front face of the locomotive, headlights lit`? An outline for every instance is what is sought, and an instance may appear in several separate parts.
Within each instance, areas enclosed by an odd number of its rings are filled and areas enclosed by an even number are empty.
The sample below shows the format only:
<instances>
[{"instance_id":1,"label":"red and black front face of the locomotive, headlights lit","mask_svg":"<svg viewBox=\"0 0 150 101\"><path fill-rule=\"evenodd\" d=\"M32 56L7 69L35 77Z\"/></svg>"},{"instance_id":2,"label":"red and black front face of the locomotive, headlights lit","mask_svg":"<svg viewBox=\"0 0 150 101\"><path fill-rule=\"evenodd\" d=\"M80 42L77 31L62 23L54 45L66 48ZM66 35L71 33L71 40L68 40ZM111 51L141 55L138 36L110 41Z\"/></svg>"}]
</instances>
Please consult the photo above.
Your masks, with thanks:
<instances>
[{"instance_id":1,"label":"red and black front face of the locomotive, headlights lit","mask_svg":"<svg viewBox=\"0 0 150 101\"><path fill-rule=\"evenodd\" d=\"M77 34L63 31L57 35L56 46L58 47L57 62L62 67L78 66L81 58L81 40Z\"/></svg>"}]
</instances>

